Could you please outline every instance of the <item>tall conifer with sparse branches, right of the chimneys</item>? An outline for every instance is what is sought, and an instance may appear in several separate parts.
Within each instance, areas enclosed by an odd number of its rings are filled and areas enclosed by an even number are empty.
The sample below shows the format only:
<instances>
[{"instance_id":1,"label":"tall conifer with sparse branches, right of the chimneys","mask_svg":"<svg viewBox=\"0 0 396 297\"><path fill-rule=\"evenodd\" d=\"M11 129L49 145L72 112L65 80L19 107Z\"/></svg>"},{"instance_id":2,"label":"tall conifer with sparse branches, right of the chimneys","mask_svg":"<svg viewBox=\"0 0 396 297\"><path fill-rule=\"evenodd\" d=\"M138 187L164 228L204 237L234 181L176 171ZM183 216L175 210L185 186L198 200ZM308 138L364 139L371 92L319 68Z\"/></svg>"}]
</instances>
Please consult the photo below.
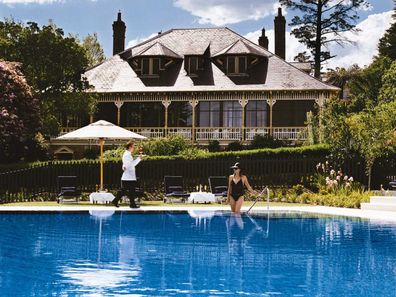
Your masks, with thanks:
<instances>
[{"instance_id":1,"label":"tall conifer with sparse branches, right of the chimneys","mask_svg":"<svg viewBox=\"0 0 396 297\"><path fill-rule=\"evenodd\" d=\"M331 43L348 42L342 34L356 31L358 9L368 7L365 0L279 0L280 4L298 10L290 26L292 34L310 50L314 60L315 77L320 78L324 61L334 58L328 50Z\"/></svg>"}]
</instances>

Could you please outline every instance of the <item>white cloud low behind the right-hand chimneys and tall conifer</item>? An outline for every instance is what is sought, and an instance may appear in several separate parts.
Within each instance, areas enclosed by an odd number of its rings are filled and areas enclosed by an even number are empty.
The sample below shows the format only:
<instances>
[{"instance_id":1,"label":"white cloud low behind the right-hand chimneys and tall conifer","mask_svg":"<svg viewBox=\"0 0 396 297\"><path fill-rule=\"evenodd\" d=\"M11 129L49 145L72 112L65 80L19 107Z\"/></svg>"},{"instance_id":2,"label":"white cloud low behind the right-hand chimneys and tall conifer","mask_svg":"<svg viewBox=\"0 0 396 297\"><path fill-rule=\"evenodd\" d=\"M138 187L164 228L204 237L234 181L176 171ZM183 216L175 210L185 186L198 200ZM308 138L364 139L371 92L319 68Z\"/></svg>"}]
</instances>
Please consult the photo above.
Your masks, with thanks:
<instances>
[{"instance_id":1,"label":"white cloud low behind the right-hand chimneys and tall conifer","mask_svg":"<svg viewBox=\"0 0 396 297\"><path fill-rule=\"evenodd\" d=\"M384 35L385 31L390 27L393 11L387 11L379 14L372 14L357 25L360 32L347 32L344 34L352 44L346 44L344 47L337 44L330 46L331 54L337 55L328 61L325 68L349 67L352 64L358 64L360 67L368 65L373 57L378 53L379 39ZM274 52L274 30L266 30L269 40L269 50ZM245 37L255 43L261 36L261 30L250 32ZM299 53L306 51L303 44L290 35L286 34L286 60L293 61L293 58Z\"/></svg>"}]
</instances>

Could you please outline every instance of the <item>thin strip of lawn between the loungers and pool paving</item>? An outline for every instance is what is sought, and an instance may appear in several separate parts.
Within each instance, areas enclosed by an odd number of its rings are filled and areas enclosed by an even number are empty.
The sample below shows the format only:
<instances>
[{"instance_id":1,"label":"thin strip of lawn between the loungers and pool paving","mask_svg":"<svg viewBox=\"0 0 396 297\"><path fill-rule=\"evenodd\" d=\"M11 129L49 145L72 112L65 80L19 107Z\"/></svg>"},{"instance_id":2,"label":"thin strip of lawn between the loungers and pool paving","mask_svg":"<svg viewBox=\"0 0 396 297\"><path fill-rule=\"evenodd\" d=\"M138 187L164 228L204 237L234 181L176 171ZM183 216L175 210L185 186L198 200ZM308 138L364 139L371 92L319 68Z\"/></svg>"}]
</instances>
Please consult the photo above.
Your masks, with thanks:
<instances>
[{"instance_id":1,"label":"thin strip of lawn between the loungers and pool paving","mask_svg":"<svg viewBox=\"0 0 396 297\"><path fill-rule=\"evenodd\" d=\"M246 201L243 205L244 206L249 206L252 205L252 201ZM1 207L7 207L7 206L58 206L59 208L65 207L65 206L86 206L90 207L93 204L89 203L89 201L81 201L78 204L58 204L55 201L44 201L44 202L18 202L18 203L8 203L8 204L1 204ZM258 202L256 206L266 206L267 204L265 202ZM111 204L95 204L95 206L102 206L102 207L110 207L112 206ZM121 206L128 206L127 204L121 204ZM228 206L226 204L218 204L218 203L202 203L202 204L186 204L186 203L164 203L163 201L143 201L141 206L194 206L194 207L210 207L210 206ZM307 204L298 204L298 203L283 203L283 202L271 202L270 206L307 206Z\"/></svg>"}]
</instances>

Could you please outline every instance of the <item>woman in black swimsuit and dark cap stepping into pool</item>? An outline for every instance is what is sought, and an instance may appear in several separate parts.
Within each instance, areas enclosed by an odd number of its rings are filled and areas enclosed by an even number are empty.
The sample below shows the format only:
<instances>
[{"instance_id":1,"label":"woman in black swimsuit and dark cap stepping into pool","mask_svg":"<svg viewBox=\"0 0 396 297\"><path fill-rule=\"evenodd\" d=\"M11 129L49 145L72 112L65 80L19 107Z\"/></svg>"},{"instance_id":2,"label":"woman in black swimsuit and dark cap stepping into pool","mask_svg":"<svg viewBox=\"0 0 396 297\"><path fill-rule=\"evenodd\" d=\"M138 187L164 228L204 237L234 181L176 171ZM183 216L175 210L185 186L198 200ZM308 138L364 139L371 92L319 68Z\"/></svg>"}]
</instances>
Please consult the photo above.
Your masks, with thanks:
<instances>
[{"instance_id":1,"label":"woman in black swimsuit and dark cap stepping into pool","mask_svg":"<svg viewBox=\"0 0 396 297\"><path fill-rule=\"evenodd\" d=\"M255 195L257 193L250 186L246 175L241 173L241 166L238 162L231 168L234 170L234 174L231 174L228 178L227 201L230 202L231 211L239 214L244 200L245 187L250 193Z\"/></svg>"}]
</instances>

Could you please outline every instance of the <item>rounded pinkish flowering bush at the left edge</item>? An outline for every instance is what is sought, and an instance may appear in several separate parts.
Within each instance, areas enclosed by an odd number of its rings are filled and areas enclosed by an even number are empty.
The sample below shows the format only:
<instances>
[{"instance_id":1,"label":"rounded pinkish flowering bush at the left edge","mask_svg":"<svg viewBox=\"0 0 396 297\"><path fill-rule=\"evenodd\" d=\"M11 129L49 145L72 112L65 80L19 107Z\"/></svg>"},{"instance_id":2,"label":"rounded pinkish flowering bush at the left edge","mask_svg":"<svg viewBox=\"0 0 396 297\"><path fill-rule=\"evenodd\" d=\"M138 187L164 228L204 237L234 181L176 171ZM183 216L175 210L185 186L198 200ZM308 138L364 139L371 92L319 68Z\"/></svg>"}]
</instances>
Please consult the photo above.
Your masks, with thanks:
<instances>
[{"instance_id":1,"label":"rounded pinkish flowering bush at the left edge","mask_svg":"<svg viewBox=\"0 0 396 297\"><path fill-rule=\"evenodd\" d=\"M0 90L0 163L33 158L40 146L39 102L17 63L0 60Z\"/></svg>"}]
</instances>

